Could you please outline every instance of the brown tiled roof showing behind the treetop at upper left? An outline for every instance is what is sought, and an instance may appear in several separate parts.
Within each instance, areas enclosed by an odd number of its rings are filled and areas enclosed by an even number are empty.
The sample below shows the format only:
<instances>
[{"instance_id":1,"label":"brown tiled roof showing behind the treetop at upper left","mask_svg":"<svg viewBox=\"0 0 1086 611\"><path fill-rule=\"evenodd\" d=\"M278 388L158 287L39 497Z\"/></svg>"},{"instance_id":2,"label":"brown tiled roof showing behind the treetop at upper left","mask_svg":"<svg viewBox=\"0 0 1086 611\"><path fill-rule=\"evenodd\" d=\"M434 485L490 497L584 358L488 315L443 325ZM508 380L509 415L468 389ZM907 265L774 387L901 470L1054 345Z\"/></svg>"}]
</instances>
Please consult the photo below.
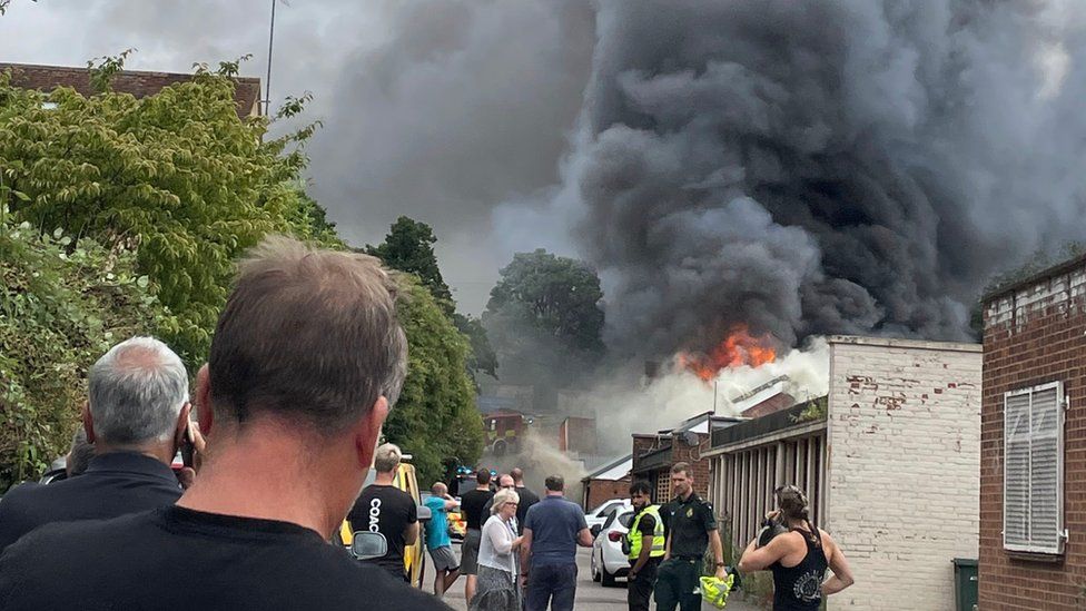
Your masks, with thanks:
<instances>
[{"instance_id":1,"label":"brown tiled roof showing behind the treetop at upper left","mask_svg":"<svg viewBox=\"0 0 1086 611\"><path fill-rule=\"evenodd\" d=\"M0 62L0 72L11 70L11 85L23 89L39 89L50 91L56 87L71 87L83 96L91 96L95 90L90 86L90 70L87 68L71 68L65 66L38 66L32 63ZM141 70L121 70L113 76L110 85L113 91L131 93L137 98L152 96L162 88L176 82L192 79L192 75L177 72L146 72ZM260 79L254 77L236 77L234 79L234 97L238 104L238 116L248 117L259 114L257 106L260 99Z\"/></svg>"}]
</instances>

